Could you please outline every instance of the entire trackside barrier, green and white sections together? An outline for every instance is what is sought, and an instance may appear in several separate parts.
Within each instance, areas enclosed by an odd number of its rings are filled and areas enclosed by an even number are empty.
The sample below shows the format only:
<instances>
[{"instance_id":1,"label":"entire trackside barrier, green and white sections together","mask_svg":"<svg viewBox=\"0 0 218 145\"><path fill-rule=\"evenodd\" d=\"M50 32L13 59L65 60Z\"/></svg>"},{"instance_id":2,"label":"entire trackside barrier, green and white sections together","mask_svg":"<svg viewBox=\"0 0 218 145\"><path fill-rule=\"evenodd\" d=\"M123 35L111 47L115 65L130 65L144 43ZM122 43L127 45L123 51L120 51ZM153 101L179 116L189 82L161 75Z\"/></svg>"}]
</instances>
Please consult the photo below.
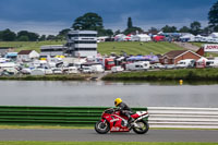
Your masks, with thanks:
<instances>
[{"instance_id":1,"label":"entire trackside barrier, green and white sections together","mask_svg":"<svg viewBox=\"0 0 218 145\"><path fill-rule=\"evenodd\" d=\"M0 124L94 125L109 107L0 106ZM150 128L218 129L218 108L133 108L149 113Z\"/></svg>"}]
</instances>

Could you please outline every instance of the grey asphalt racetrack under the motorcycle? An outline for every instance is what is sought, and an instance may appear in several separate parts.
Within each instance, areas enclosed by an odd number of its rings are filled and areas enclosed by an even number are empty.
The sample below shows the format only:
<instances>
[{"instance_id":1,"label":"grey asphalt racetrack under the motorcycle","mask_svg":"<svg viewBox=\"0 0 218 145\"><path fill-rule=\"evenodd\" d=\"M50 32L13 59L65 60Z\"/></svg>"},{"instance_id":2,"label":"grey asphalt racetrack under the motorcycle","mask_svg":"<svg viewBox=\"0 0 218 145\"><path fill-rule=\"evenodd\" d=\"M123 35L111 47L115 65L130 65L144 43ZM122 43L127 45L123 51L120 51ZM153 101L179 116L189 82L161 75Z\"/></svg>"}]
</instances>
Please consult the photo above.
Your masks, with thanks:
<instances>
[{"instance_id":1,"label":"grey asphalt racetrack under the motorcycle","mask_svg":"<svg viewBox=\"0 0 218 145\"><path fill-rule=\"evenodd\" d=\"M213 130L149 130L146 134L108 133L95 130L0 130L0 141L64 141L64 142L217 142Z\"/></svg>"}]
</instances>

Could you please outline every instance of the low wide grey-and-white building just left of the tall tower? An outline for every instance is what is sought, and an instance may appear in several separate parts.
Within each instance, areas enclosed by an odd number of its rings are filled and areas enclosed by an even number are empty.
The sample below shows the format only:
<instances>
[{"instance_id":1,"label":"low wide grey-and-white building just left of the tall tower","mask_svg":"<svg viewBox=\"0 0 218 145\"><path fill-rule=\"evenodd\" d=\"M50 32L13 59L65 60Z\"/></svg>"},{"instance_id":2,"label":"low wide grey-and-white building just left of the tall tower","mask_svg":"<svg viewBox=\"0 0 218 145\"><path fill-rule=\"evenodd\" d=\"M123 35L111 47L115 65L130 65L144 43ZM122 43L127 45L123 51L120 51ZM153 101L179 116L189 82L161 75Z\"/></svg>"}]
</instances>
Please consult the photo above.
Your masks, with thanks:
<instances>
[{"instance_id":1,"label":"low wide grey-and-white building just left of the tall tower","mask_svg":"<svg viewBox=\"0 0 218 145\"><path fill-rule=\"evenodd\" d=\"M47 56L50 56L53 58L56 56L65 56L66 50L68 47L63 45L41 46L40 57L47 58Z\"/></svg>"}]
</instances>

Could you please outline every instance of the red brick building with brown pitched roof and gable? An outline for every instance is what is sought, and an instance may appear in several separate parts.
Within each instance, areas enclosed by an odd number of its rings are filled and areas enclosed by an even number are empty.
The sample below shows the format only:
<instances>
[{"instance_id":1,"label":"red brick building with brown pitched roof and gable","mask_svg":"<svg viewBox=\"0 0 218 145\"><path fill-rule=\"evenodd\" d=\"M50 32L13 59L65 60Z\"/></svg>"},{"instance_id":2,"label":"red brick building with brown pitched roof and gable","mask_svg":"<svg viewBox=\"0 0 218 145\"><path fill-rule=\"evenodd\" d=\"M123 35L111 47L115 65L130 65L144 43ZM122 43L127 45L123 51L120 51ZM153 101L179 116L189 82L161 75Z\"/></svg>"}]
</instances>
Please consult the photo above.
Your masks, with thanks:
<instances>
[{"instance_id":1,"label":"red brick building with brown pitched roof and gable","mask_svg":"<svg viewBox=\"0 0 218 145\"><path fill-rule=\"evenodd\" d=\"M191 51L191 50L173 50L165 53L161 58L159 58L160 63L162 64L177 64L178 61L184 59L201 59L202 56Z\"/></svg>"}]
</instances>

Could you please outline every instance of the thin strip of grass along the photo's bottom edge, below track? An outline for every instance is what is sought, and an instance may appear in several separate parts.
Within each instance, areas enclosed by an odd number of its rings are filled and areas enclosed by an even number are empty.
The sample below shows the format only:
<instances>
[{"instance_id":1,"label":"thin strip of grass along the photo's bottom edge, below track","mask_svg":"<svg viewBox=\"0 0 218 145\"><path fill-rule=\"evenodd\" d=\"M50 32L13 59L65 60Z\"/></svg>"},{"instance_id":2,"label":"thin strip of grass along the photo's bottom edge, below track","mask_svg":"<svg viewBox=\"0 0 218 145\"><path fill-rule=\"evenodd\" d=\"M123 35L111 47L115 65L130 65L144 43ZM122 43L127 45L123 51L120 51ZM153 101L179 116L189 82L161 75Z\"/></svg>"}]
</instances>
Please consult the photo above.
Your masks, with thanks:
<instances>
[{"instance_id":1,"label":"thin strip of grass along the photo's bottom edge, below track","mask_svg":"<svg viewBox=\"0 0 218 145\"><path fill-rule=\"evenodd\" d=\"M0 145L218 145L218 143L147 143L147 142L0 142Z\"/></svg>"}]
</instances>

